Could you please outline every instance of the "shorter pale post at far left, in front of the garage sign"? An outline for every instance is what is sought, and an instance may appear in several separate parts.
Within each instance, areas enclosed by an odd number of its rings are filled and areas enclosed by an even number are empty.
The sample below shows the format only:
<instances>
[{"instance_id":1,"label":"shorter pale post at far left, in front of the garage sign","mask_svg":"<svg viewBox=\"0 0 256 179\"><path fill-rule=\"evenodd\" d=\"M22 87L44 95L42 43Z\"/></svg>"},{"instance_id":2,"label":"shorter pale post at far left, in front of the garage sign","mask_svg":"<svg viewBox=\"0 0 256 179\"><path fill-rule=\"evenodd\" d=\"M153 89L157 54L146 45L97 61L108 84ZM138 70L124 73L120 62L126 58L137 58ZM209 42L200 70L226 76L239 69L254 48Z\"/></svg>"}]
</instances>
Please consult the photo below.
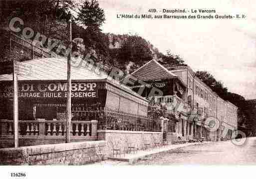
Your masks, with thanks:
<instances>
[{"instance_id":1,"label":"shorter pale post at far left, in front of the garage sign","mask_svg":"<svg viewBox=\"0 0 256 179\"><path fill-rule=\"evenodd\" d=\"M13 60L13 128L14 128L14 147L18 147L18 76L16 64Z\"/></svg>"}]
</instances>

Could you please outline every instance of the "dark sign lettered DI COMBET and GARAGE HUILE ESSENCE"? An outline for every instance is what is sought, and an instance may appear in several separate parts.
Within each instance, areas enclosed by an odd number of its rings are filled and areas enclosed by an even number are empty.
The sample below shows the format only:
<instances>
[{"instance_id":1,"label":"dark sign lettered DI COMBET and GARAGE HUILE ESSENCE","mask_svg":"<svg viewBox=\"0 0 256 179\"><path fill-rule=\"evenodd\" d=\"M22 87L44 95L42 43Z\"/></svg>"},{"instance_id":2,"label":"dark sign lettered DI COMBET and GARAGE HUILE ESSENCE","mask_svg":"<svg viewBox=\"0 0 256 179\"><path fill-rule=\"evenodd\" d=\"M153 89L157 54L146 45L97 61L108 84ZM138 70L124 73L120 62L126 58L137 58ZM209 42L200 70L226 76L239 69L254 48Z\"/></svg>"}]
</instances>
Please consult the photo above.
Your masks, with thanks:
<instances>
[{"instance_id":1,"label":"dark sign lettered DI COMBET and GARAGE HUILE ESSENCE","mask_svg":"<svg viewBox=\"0 0 256 179\"><path fill-rule=\"evenodd\" d=\"M21 83L18 89L19 98L66 98L67 83ZM71 97L97 98L97 83L77 82L71 84ZM12 86L0 85L0 98L12 98Z\"/></svg>"}]
</instances>

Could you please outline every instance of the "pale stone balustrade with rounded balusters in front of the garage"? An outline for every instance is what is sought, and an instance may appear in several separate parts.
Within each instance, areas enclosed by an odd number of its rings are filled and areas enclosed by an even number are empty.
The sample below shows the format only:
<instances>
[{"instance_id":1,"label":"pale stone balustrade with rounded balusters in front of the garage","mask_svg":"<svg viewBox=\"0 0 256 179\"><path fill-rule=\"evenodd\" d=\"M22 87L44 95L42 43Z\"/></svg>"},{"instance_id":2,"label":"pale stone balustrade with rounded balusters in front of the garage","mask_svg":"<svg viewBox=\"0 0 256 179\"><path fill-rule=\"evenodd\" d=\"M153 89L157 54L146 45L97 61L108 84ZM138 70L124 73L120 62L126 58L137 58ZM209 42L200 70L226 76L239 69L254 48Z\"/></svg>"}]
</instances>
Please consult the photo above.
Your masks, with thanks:
<instances>
[{"instance_id":1,"label":"pale stone balustrade with rounded balusters in front of the garage","mask_svg":"<svg viewBox=\"0 0 256 179\"><path fill-rule=\"evenodd\" d=\"M71 136L97 136L97 121L71 121ZM0 134L13 135L13 121L0 120ZM18 133L20 136L64 136L66 133L65 121L19 121Z\"/></svg>"}]
</instances>

